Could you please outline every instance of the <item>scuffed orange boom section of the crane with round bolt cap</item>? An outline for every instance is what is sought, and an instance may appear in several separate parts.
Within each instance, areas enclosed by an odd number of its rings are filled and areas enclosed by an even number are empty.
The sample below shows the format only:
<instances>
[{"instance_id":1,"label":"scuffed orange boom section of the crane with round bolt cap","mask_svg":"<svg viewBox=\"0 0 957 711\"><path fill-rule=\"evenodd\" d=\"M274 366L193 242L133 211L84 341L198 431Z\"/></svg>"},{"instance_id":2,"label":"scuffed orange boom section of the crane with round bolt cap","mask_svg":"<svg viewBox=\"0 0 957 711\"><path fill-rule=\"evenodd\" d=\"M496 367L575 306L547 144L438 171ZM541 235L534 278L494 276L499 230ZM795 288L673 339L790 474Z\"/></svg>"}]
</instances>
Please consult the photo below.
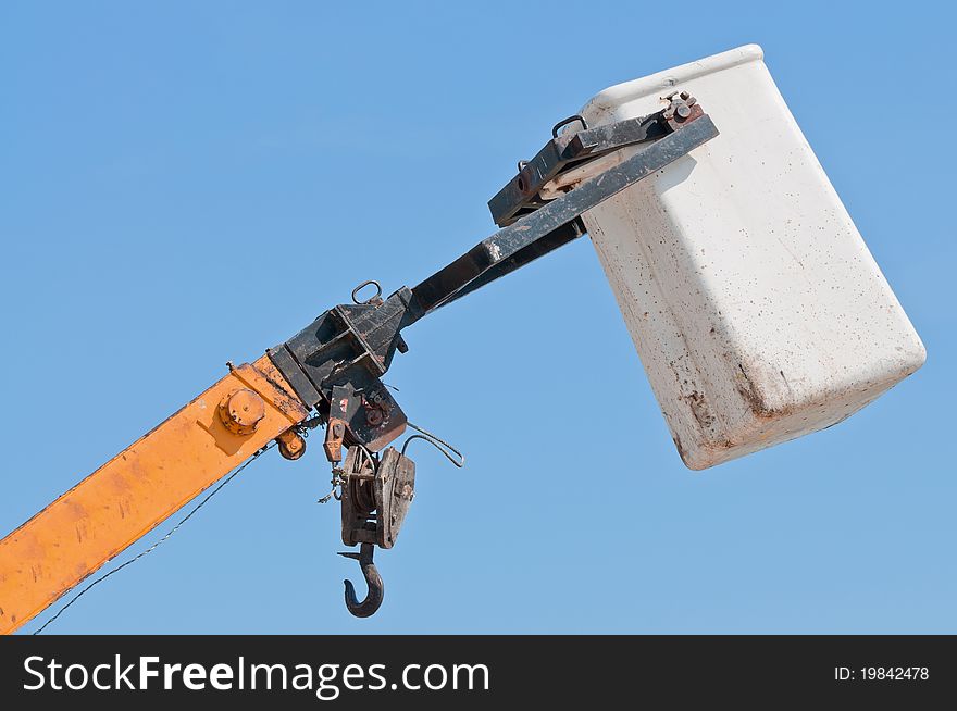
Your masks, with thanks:
<instances>
[{"instance_id":1,"label":"scuffed orange boom section of the crane with round bolt cap","mask_svg":"<svg viewBox=\"0 0 957 711\"><path fill-rule=\"evenodd\" d=\"M268 356L231 369L0 540L0 634L27 623L307 413Z\"/></svg>"}]
</instances>

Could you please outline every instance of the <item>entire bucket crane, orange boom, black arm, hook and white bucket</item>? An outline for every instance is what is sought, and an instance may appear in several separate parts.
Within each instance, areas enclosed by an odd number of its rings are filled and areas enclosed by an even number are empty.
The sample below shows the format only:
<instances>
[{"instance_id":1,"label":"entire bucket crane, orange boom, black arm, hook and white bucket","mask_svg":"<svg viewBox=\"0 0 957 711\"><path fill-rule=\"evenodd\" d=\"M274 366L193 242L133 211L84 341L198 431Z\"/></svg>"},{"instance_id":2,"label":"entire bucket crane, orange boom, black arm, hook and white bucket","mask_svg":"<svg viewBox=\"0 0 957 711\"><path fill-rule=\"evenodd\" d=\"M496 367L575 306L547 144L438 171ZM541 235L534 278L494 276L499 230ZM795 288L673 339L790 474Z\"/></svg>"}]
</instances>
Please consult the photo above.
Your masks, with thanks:
<instances>
[{"instance_id":1,"label":"entire bucket crane, orange boom, black arm, hook and white bucket","mask_svg":"<svg viewBox=\"0 0 957 711\"><path fill-rule=\"evenodd\" d=\"M394 442L412 427L445 445L382 381L409 350L405 329L586 234L692 469L831 426L920 367L920 339L762 57L746 46L599 93L489 200L492 236L387 297L363 282L257 360L227 364L0 540L0 633L266 450L300 459L316 427L343 542L358 546L343 554L368 587L359 600L346 581L346 607L373 614L375 548L395 546L415 494L415 463Z\"/></svg>"}]
</instances>

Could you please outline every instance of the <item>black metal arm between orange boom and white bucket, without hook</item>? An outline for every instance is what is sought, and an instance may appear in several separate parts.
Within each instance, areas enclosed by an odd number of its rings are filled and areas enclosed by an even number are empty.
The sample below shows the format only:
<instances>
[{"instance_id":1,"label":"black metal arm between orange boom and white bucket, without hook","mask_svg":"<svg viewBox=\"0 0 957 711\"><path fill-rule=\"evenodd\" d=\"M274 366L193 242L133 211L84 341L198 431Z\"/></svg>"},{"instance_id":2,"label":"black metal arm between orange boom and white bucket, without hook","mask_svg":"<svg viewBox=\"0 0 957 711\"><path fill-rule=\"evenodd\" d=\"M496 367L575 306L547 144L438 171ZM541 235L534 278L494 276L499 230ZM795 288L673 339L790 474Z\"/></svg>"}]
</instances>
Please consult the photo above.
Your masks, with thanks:
<instances>
[{"instance_id":1,"label":"black metal arm between orange boom and white bucket, without hook","mask_svg":"<svg viewBox=\"0 0 957 711\"><path fill-rule=\"evenodd\" d=\"M341 423L338 447L377 451L405 429L405 414L380 381L395 351L406 350L403 328L580 237L584 212L718 135L694 99L670 99L650 116L554 137L489 202L501 229L411 289L335 307L269 351L303 402ZM635 148L631 157L547 198L546 187L563 173L627 146ZM326 452L338 461L336 446Z\"/></svg>"}]
</instances>

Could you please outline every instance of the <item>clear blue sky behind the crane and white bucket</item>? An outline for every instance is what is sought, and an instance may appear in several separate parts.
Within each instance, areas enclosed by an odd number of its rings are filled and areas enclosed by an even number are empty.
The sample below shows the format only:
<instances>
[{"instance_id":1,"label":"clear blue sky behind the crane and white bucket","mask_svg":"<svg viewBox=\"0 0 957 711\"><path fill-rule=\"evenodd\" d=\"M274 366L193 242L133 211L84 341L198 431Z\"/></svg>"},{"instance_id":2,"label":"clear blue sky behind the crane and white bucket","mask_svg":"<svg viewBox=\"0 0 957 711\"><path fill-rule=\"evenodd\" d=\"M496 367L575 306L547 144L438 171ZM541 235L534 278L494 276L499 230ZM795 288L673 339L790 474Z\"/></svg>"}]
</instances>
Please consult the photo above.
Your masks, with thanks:
<instances>
[{"instance_id":1,"label":"clear blue sky behind the crane and white bucket","mask_svg":"<svg viewBox=\"0 0 957 711\"><path fill-rule=\"evenodd\" d=\"M693 473L579 240L407 332L387 379L469 462L415 450L374 618L343 606L358 571L315 504L313 440L254 462L49 631L957 632L954 20L919 2L3 3L2 534L225 361L490 234L486 200L596 91L747 42L929 353L840 426ZM249 298L224 304L236 276Z\"/></svg>"}]
</instances>

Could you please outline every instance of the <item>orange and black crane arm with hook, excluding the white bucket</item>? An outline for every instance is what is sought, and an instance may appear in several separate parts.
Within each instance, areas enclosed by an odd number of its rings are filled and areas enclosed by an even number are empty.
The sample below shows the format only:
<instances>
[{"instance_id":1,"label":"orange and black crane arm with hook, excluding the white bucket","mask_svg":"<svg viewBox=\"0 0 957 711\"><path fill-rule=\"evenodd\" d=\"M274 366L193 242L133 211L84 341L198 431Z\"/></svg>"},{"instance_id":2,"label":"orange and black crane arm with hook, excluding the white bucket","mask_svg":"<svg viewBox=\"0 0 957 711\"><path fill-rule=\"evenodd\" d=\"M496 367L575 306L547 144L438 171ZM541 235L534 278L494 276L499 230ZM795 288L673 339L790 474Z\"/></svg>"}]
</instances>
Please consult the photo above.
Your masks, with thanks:
<instances>
[{"instance_id":1,"label":"orange and black crane arm with hook, excluding the white bucket","mask_svg":"<svg viewBox=\"0 0 957 711\"><path fill-rule=\"evenodd\" d=\"M375 612L383 585L374 547L395 545L414 497L415 465L389 444L406 432L383 384L402 330L436 309L581 237L581 214L717 135L700 105L670 97L650 116L559 133L493 199L501 229L411 288L387 298L375 283L300 333L228 373L178 412L0 540L0 632L12 633L201 491L275 442L297 460L304 434L325 428L323 450L341 489L343 541L369 585L357 616ZM629 160L550 200L540 189L629 146ZM363 290L374 294L361 299ZM344 453L345 452L345 453Z\"/></svg>"}]
</instances>

